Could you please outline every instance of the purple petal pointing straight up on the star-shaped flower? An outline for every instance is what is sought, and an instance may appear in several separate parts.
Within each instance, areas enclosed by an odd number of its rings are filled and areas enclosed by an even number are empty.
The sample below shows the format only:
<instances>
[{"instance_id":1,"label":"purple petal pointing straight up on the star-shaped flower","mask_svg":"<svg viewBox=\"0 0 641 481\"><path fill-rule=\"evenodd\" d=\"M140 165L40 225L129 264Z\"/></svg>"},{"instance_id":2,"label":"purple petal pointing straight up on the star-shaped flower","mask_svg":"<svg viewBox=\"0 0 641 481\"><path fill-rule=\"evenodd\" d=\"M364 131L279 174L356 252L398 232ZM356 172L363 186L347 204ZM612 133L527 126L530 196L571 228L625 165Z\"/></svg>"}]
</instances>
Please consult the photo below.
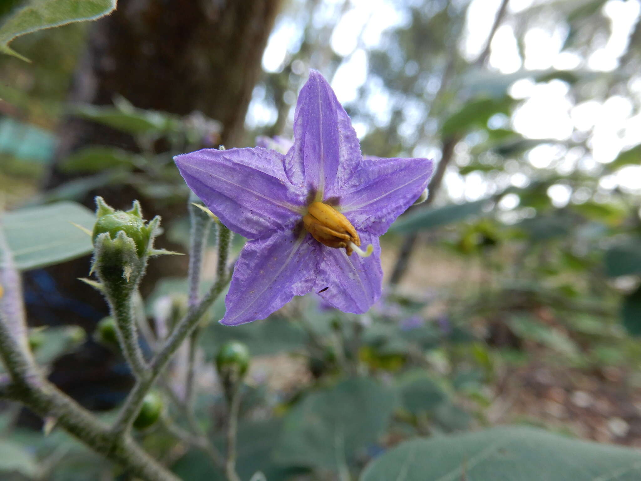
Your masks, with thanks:
<instances>
[{"instance_id":1,"label":"purple petal pointing straight up on the star-shaped flower","mask_svg":"<svg viewBox=\"0 0 641 481\"><path fill-rule=\"evenodd\" d=\"M322 199L336 196L362 156L349 115L323 76L310 71L294 115L294 146L285 156L287 175Z\"/></svg>"}]
</instances>

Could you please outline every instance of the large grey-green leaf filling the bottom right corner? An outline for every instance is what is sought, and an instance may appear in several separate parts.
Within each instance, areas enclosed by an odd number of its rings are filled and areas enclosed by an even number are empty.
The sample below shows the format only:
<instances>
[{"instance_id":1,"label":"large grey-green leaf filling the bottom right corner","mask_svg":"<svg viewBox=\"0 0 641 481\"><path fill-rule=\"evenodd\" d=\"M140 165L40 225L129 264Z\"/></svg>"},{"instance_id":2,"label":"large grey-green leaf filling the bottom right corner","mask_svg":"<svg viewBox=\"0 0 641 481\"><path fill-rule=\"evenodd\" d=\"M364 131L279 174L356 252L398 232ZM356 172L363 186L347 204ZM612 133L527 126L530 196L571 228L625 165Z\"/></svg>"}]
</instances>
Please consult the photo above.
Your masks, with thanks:
<instances>
[{"instance_id":1,"label":"large grey-green leaf filling the bottom right corner","mask_svg":"<svg viewBox=\"0 0 641 481\"><path fill-rule=\"evenodd\" d=\"M378 457L360 481L636 481L637 450L507 426L413 439Z\"/></svg>"}]
</instances>

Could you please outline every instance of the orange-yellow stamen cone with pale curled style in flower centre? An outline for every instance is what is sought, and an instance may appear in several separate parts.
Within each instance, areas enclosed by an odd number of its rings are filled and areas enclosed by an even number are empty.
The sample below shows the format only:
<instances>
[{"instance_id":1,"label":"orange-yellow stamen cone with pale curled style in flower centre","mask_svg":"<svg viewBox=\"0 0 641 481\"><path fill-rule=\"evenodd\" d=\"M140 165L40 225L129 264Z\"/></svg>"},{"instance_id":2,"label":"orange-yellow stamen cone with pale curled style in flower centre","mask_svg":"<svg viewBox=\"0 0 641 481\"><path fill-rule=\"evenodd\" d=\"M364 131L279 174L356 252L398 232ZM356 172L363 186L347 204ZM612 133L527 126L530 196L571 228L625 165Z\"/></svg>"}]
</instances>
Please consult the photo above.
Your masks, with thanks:
<instances>
[{"instance_id":1,"label":"orange-yellow stamen cone with pale curled style in flower centre","mask_svg":"<svg viewBox=\"0 0 641 481\"><path fill-rule=\"evenodd\" d=\"M308 207L308 214L303 215L303 225L312 237L328 247L345 249L347 255L356 251L358 255L368 257L374 251L367 246L367 252L360 249L360 237L354 226L335 208L322 202L313 202Z\"/></svg>"}]
</instances>

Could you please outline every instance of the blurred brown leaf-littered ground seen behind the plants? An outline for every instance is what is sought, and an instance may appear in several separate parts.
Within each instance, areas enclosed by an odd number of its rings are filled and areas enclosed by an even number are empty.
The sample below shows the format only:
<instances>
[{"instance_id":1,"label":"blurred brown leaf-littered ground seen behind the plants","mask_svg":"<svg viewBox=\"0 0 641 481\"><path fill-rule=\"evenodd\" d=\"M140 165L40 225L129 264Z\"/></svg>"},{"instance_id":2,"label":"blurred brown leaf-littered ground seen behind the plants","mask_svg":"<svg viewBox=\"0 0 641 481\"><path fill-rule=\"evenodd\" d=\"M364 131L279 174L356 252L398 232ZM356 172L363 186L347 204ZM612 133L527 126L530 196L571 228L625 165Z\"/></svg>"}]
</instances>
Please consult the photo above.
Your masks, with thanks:
<instances>
[{"instance_id":1,"label":"blurred brown leaf-littered ground seen behind the plants","mask_svg":"<svg viewBox=\"0 0 641 481\"><path fill-rule=\"evenodd\" d=\"M394 242L385 242L382 263L386 277L396 255ZM463 265L460 258L447 255L443 249L428 247L413 256L401 289L424 293L437 288L449 291L456 286L457 291L464 291L478 286L481 278L478 266ZM438 316L444 307L438 302L430 305L428 318ZM475 319L474 323L478 330L487 328L487 319ZM548 319L547 324L563 330L553 320ZM558 364L554 353L535 342L522 342L520 350L529 362L501 366L488 388L492 391L489 407L468 403L482 419L479 424L528 423L582 439L641 448L641 388L633 369L578 369ZM251 377L281 393L296 392L312 382L306 360L285 354L255 359Z\"/></svg>"}]
</instances>

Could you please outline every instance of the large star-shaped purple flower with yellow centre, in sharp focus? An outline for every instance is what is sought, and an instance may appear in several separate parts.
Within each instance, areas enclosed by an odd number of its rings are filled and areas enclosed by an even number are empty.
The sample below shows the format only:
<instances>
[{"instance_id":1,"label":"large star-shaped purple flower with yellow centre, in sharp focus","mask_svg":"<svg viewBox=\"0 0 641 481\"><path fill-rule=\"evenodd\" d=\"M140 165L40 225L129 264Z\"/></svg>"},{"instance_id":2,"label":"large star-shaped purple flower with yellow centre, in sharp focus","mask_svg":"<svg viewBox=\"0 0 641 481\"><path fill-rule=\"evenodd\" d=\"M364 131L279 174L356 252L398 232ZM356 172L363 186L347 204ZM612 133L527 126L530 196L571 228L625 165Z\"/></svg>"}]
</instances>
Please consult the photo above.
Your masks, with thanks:
<instances>
[{"instance_id":1,"label":"large star-shaped purple flower with yellow centre, in sharp focus","mask_svg":"<svg viewBox=\"0 0 641 481\"><path fill-rule=\"evenodd\" d=\"M175 160L190 189L249 239L225 300L226 325L264 319L311 291L337 309L366 312L381 295L378 237L433 170L425 158L363 159L349 116L317 71L298 97L287 154L203 149Z\"/></svg>"}]
</instances>

